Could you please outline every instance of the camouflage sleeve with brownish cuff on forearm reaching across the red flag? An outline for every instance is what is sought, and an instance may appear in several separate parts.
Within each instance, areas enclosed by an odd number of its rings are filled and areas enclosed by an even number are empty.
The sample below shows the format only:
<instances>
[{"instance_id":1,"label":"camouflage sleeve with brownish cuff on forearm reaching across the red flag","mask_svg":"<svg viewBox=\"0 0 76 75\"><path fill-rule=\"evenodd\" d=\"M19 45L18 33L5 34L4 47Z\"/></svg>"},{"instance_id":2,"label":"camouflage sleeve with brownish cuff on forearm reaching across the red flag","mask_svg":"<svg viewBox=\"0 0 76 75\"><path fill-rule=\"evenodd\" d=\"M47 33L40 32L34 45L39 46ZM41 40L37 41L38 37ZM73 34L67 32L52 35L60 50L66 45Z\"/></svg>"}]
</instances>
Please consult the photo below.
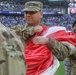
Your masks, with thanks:
<instances>
[{"instance_id":1,"label":"camouflage sleeve with brownish cuff on forearm reaching across the red flag","mask_svg":"<svg viewBox=\"0 0 76 75\"><path fill-rule=\"evenodd\" d=\"M59 60L64 60L66 57L76 55L75 46L69 42L59 42L55 39L50 39L47 47Z\"/></svg>"}]
</instances>

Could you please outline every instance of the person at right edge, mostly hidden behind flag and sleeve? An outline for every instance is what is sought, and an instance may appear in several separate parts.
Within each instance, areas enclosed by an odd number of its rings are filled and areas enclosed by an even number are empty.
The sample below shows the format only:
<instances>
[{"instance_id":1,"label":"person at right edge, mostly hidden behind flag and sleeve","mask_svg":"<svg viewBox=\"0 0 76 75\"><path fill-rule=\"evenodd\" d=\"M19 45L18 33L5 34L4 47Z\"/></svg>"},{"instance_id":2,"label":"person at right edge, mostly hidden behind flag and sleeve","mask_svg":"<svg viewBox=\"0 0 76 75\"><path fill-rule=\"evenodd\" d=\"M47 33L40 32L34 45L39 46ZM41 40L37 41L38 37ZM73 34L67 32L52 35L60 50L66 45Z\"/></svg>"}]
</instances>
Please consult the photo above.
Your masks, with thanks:
<instances>
[{"instance_id":1,"label":"person at right edge, mostly hidden behind flag and sleeve","mask_svg":"<svg viewBox=\"0 0 76 75\"><path fill-rule=\"evenodd\" d=\"M73 22L72 32L76 35L76 21ZM72 57L64 60L66 75L76 75L76 57Z\"/></svg>"}]
</instances>

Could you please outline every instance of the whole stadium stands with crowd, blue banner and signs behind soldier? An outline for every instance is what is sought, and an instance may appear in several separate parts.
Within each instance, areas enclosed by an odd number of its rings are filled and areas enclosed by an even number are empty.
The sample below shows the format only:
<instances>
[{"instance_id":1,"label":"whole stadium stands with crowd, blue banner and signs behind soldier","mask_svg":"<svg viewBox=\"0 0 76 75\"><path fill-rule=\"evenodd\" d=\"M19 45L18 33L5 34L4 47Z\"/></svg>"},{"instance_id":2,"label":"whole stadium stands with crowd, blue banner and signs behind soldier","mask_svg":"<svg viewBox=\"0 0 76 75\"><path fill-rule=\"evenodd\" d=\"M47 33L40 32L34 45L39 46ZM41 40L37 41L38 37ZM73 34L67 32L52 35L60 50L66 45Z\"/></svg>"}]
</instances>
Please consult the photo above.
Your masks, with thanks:
<instances>
[{"instance_id":1,"label":"whole stadium stands with crowd, blue banner and signs behind soldier","mask_svg":"<svg viewBox=\"0 0 76 75\"><path fill-rule=\"evenodd\" d=\"M0 0L0 22L6 27L24 25L24 8L28 0ZM31 1L31 0L29 0ZM72 23L76 21L76 0L33 0L44 4L42 22L45 25L64 26L71 30Z\"/></svg>"}]
</instances>

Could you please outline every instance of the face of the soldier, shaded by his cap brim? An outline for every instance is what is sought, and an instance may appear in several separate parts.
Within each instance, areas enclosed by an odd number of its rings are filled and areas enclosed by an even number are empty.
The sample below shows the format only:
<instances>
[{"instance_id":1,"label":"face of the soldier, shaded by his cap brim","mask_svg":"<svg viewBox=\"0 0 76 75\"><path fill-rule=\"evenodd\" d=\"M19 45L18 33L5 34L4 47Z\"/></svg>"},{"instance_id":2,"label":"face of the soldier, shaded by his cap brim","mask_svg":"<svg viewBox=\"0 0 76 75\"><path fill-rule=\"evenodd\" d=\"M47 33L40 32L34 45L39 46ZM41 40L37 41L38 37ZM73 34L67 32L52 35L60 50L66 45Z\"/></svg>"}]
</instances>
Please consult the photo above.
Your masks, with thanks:
<instances>
[{"instance_id":1,"label":"face of the soldier, shaded by his cap brim","mask_svg":"<svg viewBox=\"0 0 76 75\"><path fill-rule=\"evenodd\" d=\"M40 24L41 18L43 17L42 12L38 11L26 11L24 13L24 19L29 25Z\"/></svg>"}]
</instances>

